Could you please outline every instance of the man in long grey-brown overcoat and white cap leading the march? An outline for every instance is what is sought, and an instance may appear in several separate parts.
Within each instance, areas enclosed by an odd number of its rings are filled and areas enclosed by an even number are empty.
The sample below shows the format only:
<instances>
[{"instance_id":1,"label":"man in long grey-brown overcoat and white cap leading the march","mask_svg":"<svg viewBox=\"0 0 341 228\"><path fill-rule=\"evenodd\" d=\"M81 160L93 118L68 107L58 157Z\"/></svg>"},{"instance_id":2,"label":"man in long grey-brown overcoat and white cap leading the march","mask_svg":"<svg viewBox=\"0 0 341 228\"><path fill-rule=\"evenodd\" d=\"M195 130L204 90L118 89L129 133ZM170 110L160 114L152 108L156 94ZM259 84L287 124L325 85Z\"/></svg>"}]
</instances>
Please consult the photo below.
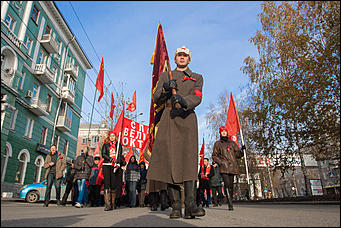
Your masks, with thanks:
<instances>
[{"instance_id":1,"label":"man in long grey-brown overcoat and white cap leading the march","mask_svg":"<svg viewBox=\"0 0 341 228\"><path fill-rule=\"evenodd\" d=\"M198 178L198 123L194 112L201 103L203 77L192 72L188 64L191 52L185 46L176 49L172 71L163 72L153 93L164 110L156 133L147 179L168 184L172 204L170 218L181 217L180 185L185 191L185 218L204 216L205 210L195 203L195 181ZM176 94L172 94L172 89ZM179 105L181 106L179 108Z\"/></svg>"}]
</instances>

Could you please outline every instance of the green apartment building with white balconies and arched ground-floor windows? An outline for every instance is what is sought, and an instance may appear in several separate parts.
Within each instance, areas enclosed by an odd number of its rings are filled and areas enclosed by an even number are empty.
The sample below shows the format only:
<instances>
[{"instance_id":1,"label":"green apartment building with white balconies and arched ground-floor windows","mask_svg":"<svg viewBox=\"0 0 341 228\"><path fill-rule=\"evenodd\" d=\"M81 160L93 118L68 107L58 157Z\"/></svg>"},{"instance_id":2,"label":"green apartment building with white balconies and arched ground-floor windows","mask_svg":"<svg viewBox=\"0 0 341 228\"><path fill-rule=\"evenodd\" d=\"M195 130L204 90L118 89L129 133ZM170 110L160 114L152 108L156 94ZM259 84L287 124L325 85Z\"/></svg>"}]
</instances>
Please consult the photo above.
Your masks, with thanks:
<instances>
[{"instance_id":1,"label":"green apartment building with white balconies and arched ground-floor windows","mask_svg":"<svg viewBox=\"0 0 341 228\"><path fill-rule=\"evenodd\" d=\"M1 188L44 179L51 144L76 156L88 57L53 1L1 1Z\"/></svg>"}]
</instances>

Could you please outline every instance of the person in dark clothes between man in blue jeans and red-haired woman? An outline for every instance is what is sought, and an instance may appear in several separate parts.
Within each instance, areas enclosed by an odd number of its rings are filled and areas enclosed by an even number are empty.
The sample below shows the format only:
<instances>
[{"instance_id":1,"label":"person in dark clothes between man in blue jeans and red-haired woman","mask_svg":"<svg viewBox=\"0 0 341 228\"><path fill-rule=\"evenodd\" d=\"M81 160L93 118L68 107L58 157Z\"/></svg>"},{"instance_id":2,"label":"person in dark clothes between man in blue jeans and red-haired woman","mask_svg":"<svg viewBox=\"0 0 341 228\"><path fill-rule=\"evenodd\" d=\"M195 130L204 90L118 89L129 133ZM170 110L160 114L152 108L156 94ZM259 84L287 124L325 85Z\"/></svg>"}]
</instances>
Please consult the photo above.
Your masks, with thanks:
<instances>
[{"instance_id":1,"label":"person in dark clothes between man in blue jeans and red-haired woman","mask_svg":"<svg viewBox=\"0 0 341 228\"><path fill-rule=\"evenodd\" d=\"M94 165L91 168L90 178L89 178L89 201L90 201L90 207L96 207L99 206L100 201L100 190L101 185L97 182L98 173L99 173L99 167L98 163L100 161L101 157L99 154L96 154L94 156Z\"/></svg>"}]
</instances>

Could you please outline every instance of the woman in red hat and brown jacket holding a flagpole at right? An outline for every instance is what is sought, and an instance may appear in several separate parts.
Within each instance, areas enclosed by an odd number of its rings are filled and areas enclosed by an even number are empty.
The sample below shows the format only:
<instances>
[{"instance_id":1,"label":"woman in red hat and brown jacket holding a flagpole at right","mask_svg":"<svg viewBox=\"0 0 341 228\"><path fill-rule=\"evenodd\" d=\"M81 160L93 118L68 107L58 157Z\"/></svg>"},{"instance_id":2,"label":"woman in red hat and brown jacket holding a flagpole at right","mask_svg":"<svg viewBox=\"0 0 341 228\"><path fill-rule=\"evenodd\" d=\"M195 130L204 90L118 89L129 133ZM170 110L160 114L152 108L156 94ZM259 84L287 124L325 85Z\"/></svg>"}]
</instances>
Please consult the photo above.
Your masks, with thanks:
<instances>
[{"instance_id":1,"label":"woman in red hat and brown jacket holding a flagpole at right","mask_svg":"<svg viewBox=\"0 0 341 228\"><path fill-rule=\"evenodd\" d=\"M220 140L214 143L212 159L219 166L220 175L224 180L228 209L232 211L233 181L234 176L239 174L237 159L243 157L242 150L245 146L239 149L237 143L229 140L227 127L221 126L219 133Z\"/></svg>"}]
</instances>

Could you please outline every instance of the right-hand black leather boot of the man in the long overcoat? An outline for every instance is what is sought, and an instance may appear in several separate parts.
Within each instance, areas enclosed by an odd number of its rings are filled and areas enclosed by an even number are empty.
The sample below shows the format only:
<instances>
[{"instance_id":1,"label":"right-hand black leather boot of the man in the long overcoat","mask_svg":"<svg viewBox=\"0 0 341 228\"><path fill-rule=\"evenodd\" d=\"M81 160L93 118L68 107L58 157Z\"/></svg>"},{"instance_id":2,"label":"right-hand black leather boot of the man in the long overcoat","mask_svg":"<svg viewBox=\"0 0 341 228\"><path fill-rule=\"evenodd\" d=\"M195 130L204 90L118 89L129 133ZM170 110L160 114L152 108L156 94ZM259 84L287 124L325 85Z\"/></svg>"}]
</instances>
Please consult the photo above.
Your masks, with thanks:
<instances>
[{"instance_id":1,"label":"right-hand black leather boot of the man in the long overcoat","mask_svg":"<svg viewBox=\"0 0 341 228\"><path fill-rule=\"evenodd\" d=\"M185 181L185 219L195 218L195 216L205 216L205 210L201 207L197 207L195 202L194 181Z\"/></svg>"}]
</instances>

